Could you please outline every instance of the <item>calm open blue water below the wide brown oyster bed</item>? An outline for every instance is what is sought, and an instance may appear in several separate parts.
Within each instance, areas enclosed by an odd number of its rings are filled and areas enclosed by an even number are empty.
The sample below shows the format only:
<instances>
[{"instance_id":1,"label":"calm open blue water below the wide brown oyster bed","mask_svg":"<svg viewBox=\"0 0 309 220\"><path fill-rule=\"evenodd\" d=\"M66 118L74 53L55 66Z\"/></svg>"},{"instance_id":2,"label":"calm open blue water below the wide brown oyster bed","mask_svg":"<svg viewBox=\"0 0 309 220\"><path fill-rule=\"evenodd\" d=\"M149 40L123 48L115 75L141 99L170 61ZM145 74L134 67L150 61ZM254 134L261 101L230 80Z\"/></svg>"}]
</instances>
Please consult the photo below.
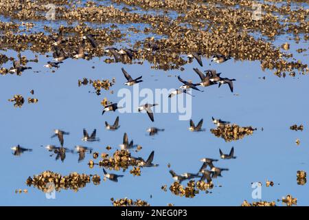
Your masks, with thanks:
<instances>
[{"instance_id":1,"label":"calm open blue water below the wide brown oyster bed","mask_svg":"<svg viewBox=\"0 0 309 220\"><path fill-rule=\"evenodd\" d=\"M279 43L281 45L282 43ZM299 47L307 47L306 43L291 43L290 51L294 57L308 63L307 56L294 52ZM4 52L2 52L4 53ZM16 52L5 52L7 56L16 57ZM306 52L305 52L306 54ZM24 52L27 58L34 57ZM297 170L309 171L308 166L308 110L309 104L304 98L308 94L308 76L291 78L277 78L271 72L262 72L259 62L228 61L222 65L215 65L203 59L204 68L215 68L223 76L236 78L233 96L227 85L218 89L216 86L203 88L204 93L193 91L192 119L198 122L204 119L205 132L190 133L189 122L179 121L176 113L157 113L152 123L147 115L141 113L104 113L100 101L117 102L117 91L125 82L121 72L122 63L106 64L98 58L91 61L68 59L60 69L52 73L43 65L49 61L39 56L39 63L28 63L32 70L26 70L22 76L6 75L0 80L0 123L1 123L1 205L111 205L110 198L119 199L129 197L144 199L152 206L174 203L175 205L235 205L238 206L244 199L251 199L251 182L262 181L262 200L276 201L287 194L297 197L299 205L308 205L308 184L298 186L296 181ZM9 67L11 63L4 66ZM95 66L95 69L91 67ZM163 72L150 69L150 64L127 65L125 69L132 76L143 75L144 82L139 85L143 88L176 88L181 83L174 77L181 75L185 80L196 82L198 76L192 70L198 67L196 61L185 65L185 71L173 70ZM39 73L33 71L41 70ZM259 77L266 76L266 80ZM101 96L92 93L93 87L78 87L78 79L82 78L111 79L116 78L116 84L111 87L114 94L102 91ZM126 87L132 90L132 87ZM34 89L34 95L30 90ZM89 93L91 91L91 93ZM8 98L14 94L38 98L37 104L27 104L21 109L14 108ZM142 99L142 98L141 98ZM104 121L113 123L119 115L120 128L106 131ZM240 126L257 127L252 136L246 136L237 142L226 143L209 132L214 128L211 116L235 122ZM290 131L292 124L304 124L304 131ZM146 133L149 126L157 126L165 131L155 137ZM261 131L261 128L264 131ZM65 147L73 149L77 144L89 146L100 153L113 153L118 144L122 143L124 132L128 133L129 140L143 148L134 156L147 158L155 151L154 163L160 164L156 168L141 168L141 176L133 177L126 170L124 177L118 183L101 181L99 186L92 183L81 188L78 193L71 190L56 192L56 199L46 199L43 192L36 188L25 186L28 176L39 174L43 170L67 175L70 172L98 174L103 176L102 169L95 166L89 169L87 163L92 155L87 154L84 161L78 163L78 154L67 153L65 162L55 161L49 157L51 153L41 145L58 144L56 138L51 139L53 129L60 128L71 134L65 136ZM84 143L81 141L82 129L89 132L97 129L100 142ZM297 146L295 140L299 138L301 144ZM25 148L32 148L33 152L25 152L21 157L14 157L11 146L21 144ZM106 146L111 145L111 151ZM201 166L202 157L219 157L218 148L228 152L234 146L236 159L220 159L216 165L229 168L223 172L223 177L214 179L211 194L200 192L194 199L176 197L170 190L163 192L161 186L172 184L172 177L168 173L167 164L176 173L194 173ZM111 173L122 173L112 171ZM274 181L273 187L266 188L265 181ZM279 184L279 186L277 185ZM186 185L186 182L183 183ZM222 187L218 187L222 185ZM28 193L15 194L16 189L27 188ZM152 199L150 199L152 195ZM280 204L280 203L278 203Z\"/></svg>"}]
</instances>

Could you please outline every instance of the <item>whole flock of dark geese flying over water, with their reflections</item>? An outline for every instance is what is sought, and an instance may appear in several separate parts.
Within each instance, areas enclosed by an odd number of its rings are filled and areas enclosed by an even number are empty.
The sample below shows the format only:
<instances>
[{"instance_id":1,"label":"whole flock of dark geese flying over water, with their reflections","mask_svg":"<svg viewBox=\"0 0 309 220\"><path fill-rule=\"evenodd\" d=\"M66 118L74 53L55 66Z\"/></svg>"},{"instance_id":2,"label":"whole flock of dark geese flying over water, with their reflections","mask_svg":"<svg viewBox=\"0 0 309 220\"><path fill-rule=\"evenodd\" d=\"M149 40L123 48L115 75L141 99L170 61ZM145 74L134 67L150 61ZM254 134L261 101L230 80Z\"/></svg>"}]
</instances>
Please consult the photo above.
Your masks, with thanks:
<instances>
[{"instance_id":1,"label":"whole flock of dark geese flying over water, with their reflections","mask_svg":"<svg viewBox=\"0 0 309 220\"><path fill-rule=\"evenodd\" d=\"M84 36L81 36L81 43L80 46L78 47L78 52L76 52L75 55L73 55L73 58L86 58L88 56L88 54L84 53L84 44L85 41L89 41L92 45L92 47L97 47L97 44L95 43L95 35L94 34L86 34ZM53 38L54 43L52 43L52 45L54 46L54 62L52 61L48 61L46 65L44 65L44 67L47 68L58 68L60 67L60 64L62 63L62 61L65 61L67 58L69 58L69 56L67 56L67 54L65 53L65 51L60 47L61 43L63 43L65 41L65 39L63 39L63 33L62 30L60 30L58 36L56 38ZM144 50L148 51L148 52L155 52L156 50L159 50L159 47L155 44L155 43L148 43L148 45L144 45ZM104 50L104 52L106 54L112 55L115 58L115 61L118 62L120 61L119 56L128 56L128 58L130 58L130 60L133 59L134 53L136 52L135 50L131 50L128 48L122 48L122 49L117 49L116 47L108 47ZM203 63L201 60L201 54L196 53L196 52L192 52L191 54L187 55L187 58L189 59L190 62L192 62L192 59L196 59L196 61L198 62L199 65L201 65L201 67L203 67ZM229 59L231 59L230 56L223 56L223 55L214 55L211 58L211 62L214 63L224 63L225 61L228 61ZM21 61L14 61L13 63L13 68L10 69L10 72L14 72L14 73L21 73L23 72L25 69L32 69L31 67L24 67L21 65ZM233 81L235 81L235 79L229 79L229 78L223 78L221 77L221 73L217 73L216 70L214 69L207 69L203 72L201 72L198 68L193 68L194 72L196 72L196 74L198 74L199 78L201 79L201 82L199 83L192 83L191 81L187 81L187 80L183 80L180 76L178 76L178 80L183 84L179 87L179 89L176 89L174 91L171 92L171 94L169 94L169 98L172 98L173 96L185 93L185 94L189 94L190 96L192 96L192 94L190 94L188 92L189 89L194 89L196 91L201 91L203 92L201 89L199 89L198 87L209 87L211 85L218 85L218 87L220 87L221 85L227 84L229 85L229 89L231 90L231 92L233 92ZM141 83L143 82L143 80L141 79L142 76L139 76L137 78L134 78L132 76L130 76L130 74L128 74L128 72L126 72L126 70L122 67L122 73L124 74L124 77L126 78L126 83L124 83L124 85L127 86L132 86L135 85L137 83ZM152 107L155 107L157 104L150 104L150 103L146 103L143 104L141 106L138 107L138 111L146 111L146 113L148 114L148 117L150 118L150 120L152 122L155 121L154 119L154 114L152 113ZM104 109L102 111L102 115L106 112L106 111L116 111L117 109L121 109L122 107L118 107L117 103L111 103L111 104L107 104L104 106ZM225 122L222 121L220 119L214 119L212 118L214 124L216 124L217 126L225 126L225 124L228 124L229 122ZM190 120L190 131L205 131L205 129L202 129L202 125L203 125L203 119L200 120L198 122L198 124L195 126L194 122L192 120ZM115 122L113 124L109 124L108 122L105 122L105 127L107 130L111 130L111 131L115 131L117 129L119 129L119 117L116 118ZM147 129L147 132L149 132L150 135L155 135L156 133L158 133L159 131L164 131L164 129L158 129L155 127L151 127L150 129ZM56 153L56 159L60 158L62 160L62 162L65 159L65 153L66 152L74 152L68 148L64 148L63 144L64 144L64 135L69 135L69 132L66 131L62 131L60 129L55 129L54 130L54 135L52 135L52 137L58 137L58 140L60 142L60 147L58 146L54 146L54 145L47 145L46 148L48 151L54 151L54 153ZM91 133L91 135L89 135L89 133L87 132L86 129L83 130L83 137L82 137L82 141L84 142L97 142L100 141L100 139L98 137L96 137L96 129L94 129L93 133ZM121 149L130 149L130 148L134 148L136 146L138 146L137 144L133 143L133 140L131 140L130 142L128 142L128 135L126 133L124 133L124 139L122 144L119 145ZM32 151L32 149L27 149L27 148L23 148L21 146L14 146L12 148L12 150L14 151L14 155L21 155L21 153L25 152L25 151ZM79 153L79 158L78 158L78 162L82 161L85 157L85 153L89 152L91 153L93 151L92 148L88 148L86 146L80 146L77 145L75 147L75 151L77 153ZM225 154L222 153L221 149L219 149L220 151L220 158L222 159L234 159L236 157L234 157L233 153L234 153L234 149L231 148L231 151L229 152L229 154ZM152 164L152 160L154 157L154 151L152 151L152 153L150 153L148 159L144 160L141 157L131 157L130 159L138 159L140 161L140 166L158 166L157 164ZM52 156L52 155L51 155ZM213 162L217 162L218 159L211 159L211 158L203 158L201 159L201 162L203 162L203 165L201 166L201 168L198 170L197 173L184 173L183 175L177 175L174 170L170 170L170 174L172 175L173 179L176 181L184 181L185 179L194 179L194 178L201 178L201 180L207 180L208 183L211 182L211 178L216 178L216 177L221 177L221 172L223 170L229 170L227 168L219 168L214 166ZM207 169L207 167L209 167L209 169ZM117 179L119 177L123 177L123 175L116 175L114 173L107 173L106 170L104 170L103 168L103 172L104 172L104 177L111 179L112 181L118 181Z\"/></svg>"}]
</instances>

